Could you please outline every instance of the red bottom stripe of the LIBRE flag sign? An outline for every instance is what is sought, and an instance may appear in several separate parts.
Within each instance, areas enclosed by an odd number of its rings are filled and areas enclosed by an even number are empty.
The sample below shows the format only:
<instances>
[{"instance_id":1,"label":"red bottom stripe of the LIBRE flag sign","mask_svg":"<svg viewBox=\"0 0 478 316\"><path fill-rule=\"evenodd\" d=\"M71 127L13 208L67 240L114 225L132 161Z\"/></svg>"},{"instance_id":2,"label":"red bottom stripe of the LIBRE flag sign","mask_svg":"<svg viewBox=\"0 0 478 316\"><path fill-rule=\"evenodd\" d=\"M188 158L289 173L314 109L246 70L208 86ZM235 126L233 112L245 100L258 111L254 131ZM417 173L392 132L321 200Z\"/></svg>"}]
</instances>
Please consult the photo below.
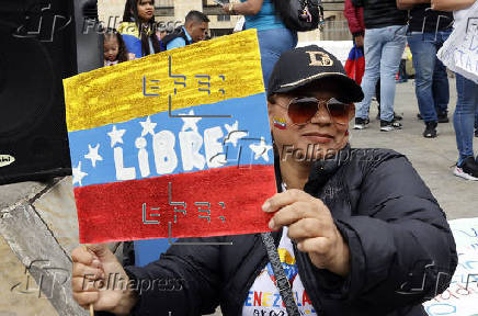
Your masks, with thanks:
<instances>
[{"instance_id":1,"label":"red bottom stripe of the LIBRE flag sign","mask_svg":"<svg viewBox=\"0 0 478 316\"><path fill-rule=\"evenodd\" d=\"M259 165L75 188L80 242L167 238L168 223L171 237L270 232L261 205L275 193Z\"/></svg>"}]
</instances>

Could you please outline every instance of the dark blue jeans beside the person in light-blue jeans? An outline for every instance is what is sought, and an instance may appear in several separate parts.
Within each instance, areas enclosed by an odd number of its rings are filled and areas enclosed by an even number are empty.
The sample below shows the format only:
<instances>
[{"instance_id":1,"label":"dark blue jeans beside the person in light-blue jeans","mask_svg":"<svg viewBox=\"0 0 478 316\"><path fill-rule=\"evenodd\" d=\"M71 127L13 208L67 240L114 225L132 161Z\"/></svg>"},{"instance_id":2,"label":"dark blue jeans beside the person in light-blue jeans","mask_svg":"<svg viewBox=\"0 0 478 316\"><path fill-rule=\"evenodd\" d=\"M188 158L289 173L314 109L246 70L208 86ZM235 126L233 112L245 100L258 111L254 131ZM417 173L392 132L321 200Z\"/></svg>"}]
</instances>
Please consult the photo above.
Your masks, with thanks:
<instances>
[{"instance_id":1,"label":"dark blue jeans beside the person in light-blue jeans","mask_svg":"<svg viewBox=\"0 0 478 316\"><path fill-rule=\"evenodd\" d=\"M437 122L439 114L447 114L449 86L446 67L436 52L449 37L452 30L436 33L412 32L407 37L416 69L416 94L423 121Z\"/></svg>"}]
</instances>

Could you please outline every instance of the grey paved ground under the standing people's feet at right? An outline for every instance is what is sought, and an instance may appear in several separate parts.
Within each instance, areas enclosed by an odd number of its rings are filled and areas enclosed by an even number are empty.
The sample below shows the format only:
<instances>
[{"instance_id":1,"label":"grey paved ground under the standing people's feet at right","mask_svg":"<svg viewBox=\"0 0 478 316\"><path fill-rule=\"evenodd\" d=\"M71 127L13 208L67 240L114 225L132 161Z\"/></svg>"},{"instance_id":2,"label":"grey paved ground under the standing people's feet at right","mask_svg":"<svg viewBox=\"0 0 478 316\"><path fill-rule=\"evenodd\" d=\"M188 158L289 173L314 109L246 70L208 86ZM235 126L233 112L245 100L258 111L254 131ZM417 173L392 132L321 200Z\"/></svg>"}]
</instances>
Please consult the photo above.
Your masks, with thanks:
<instances>
[{"instance_id":1,"label":"grey paved ground under the standing people's feet at right","mask_svg":"<svg viewBox=\"0 0 478 316\"><path fill-rule=\"evenodd\" d=\"M365 131L352 131L352 146L392 148L408 156L425 183L439 200L449 219L478 217L478 182L470 182L453 174L458 151L453 123L439 124L439 137L424 138L422 121L417 119L418 105L414 80L397 84L396 112L403 114L403 129L379 132L375 120L377 108L371 110L371 126ZM455 80L451 80L449 119L456 104ZM478 153L478 138L475 138Z\"/></svg>"}]
</instances>

